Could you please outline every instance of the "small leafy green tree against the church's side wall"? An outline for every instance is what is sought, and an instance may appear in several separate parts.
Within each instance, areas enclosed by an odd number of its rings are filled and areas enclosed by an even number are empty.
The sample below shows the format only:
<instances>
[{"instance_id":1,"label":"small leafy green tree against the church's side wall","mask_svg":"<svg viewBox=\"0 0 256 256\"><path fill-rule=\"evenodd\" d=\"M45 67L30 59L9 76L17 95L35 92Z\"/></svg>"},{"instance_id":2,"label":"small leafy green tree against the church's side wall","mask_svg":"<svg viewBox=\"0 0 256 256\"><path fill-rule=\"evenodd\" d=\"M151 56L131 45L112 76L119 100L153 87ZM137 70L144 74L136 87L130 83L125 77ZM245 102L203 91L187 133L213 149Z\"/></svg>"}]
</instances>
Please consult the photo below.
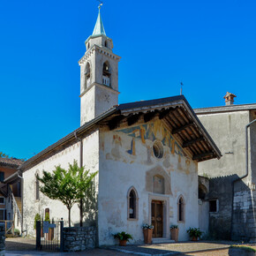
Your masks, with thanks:
<instances>
[{"instance_id":1,"label":"small leafy green tree against the church's side wall","mask_svg":"<svg viewBox=\"0 0 256 256\"><path fill-rule=\"evenodd\" d=\"M87 195L93 178L98 172L89 173L84 167L80 167L74 160L69 163L69 169L57 166L52 173L43 170L43 176L37 179L42 183L40 191L51 200L60 200L69 211L69 226L71 226L71 209L75 203L79 203Z\"/></svg>"}]
</instances>

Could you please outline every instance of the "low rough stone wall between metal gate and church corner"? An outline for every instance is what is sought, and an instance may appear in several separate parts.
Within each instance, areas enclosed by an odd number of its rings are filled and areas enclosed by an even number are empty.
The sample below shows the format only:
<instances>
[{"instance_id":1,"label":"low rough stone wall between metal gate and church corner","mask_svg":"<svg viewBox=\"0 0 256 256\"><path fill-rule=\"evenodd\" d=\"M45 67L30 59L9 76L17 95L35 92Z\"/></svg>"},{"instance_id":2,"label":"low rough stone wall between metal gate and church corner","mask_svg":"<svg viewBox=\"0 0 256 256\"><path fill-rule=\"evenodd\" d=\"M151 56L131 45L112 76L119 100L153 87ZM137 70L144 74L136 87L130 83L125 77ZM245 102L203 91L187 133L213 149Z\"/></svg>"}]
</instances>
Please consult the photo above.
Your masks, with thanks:
<instances>
[{"instance_id":1,"label":"low rough stone wall between metal gate and church corner","mask_svg":"<svg viewBox=\"0 0 256 256\"><path fill-rule=\"evenodd\" d=\"M95 246L95 227L64 228L64 252L84 251Z\"/></svg>"}]
</instances>

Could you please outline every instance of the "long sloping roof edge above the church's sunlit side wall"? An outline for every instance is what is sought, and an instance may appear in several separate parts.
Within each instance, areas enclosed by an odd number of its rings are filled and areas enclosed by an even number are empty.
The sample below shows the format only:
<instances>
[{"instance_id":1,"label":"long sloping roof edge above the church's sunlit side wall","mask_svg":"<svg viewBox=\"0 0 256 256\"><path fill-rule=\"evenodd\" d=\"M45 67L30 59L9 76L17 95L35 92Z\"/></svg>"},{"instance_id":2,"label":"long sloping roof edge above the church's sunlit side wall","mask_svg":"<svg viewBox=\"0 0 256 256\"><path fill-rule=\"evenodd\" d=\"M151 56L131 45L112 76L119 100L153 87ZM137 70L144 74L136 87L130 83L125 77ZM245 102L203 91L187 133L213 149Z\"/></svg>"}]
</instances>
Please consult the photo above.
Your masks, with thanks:
<instances>
[{"instance_id":1,"label":"long sloping roof edge above the church's sunlit side wall","mask_svg":"<svg viewBox=\"0 0 256 256\"><path fill-rule=\"evenodd\" d=\"M37 159L41 158L43 155L48 154L51 150L53 150L54 148L64 144L65 142L67 142L68 140L74 138L75 139L75 134L79 135L79 133L82 132L86 132L88 129L90 129L91 127L93 127L95 124L97 124L98 122L102 121L102 119L104 119L105 117L109 117L110 115L112 115L113 113L115 113L117 111L117 107L113 107L109 110L107 110L106 112L104 112L102 115L100 115L99 117L95 117L93 120L87 122L86 124L83 124L82 126L80 126L78 129L76 129L75 131L69 133L68 135L66 135L64 138L59 139L58 141L56 141L56 143L50 145L49 147L43 149L40 153L35 154L33 157L31 157L30 159L28 159L26 162L24 162L19 169L24 170L26 169L26 167L33 163L34 161L36 161Z\"/></svg>"}]
</instances>

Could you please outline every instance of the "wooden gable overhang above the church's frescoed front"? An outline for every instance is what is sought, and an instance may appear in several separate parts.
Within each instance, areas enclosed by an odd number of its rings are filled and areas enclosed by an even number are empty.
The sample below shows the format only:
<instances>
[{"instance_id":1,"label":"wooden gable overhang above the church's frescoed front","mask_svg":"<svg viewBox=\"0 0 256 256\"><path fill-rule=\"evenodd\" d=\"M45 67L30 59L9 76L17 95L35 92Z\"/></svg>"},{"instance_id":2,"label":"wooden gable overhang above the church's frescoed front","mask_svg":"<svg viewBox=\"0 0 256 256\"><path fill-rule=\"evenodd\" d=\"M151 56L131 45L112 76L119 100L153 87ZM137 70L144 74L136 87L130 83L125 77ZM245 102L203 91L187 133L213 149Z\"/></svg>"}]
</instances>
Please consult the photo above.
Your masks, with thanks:
<instances>
[{"instance_id":1,"label":"wooden gable overhang above the church's frescoed front","mask_svg":"<svg viewBox=\"0 0 256 256\"><path fill-rule=\"evenodd\" d=\"M132 102L119 105L121 116L126 117L128 124L132 124L132 118L138 120L143 116L147 122L154 117L159 117L169 127L169 131L190 152L192 160L197 162L221 158L222 154L210 137L207 130L201 124L200 119L194 113L184 95L162 98L151 101ZM115 122L124 123L124 118L116 117ZM130 121L129 121L130 120ZM117 124L111 124L110 128L117 128Z\"/></svg>"}]
</instances>

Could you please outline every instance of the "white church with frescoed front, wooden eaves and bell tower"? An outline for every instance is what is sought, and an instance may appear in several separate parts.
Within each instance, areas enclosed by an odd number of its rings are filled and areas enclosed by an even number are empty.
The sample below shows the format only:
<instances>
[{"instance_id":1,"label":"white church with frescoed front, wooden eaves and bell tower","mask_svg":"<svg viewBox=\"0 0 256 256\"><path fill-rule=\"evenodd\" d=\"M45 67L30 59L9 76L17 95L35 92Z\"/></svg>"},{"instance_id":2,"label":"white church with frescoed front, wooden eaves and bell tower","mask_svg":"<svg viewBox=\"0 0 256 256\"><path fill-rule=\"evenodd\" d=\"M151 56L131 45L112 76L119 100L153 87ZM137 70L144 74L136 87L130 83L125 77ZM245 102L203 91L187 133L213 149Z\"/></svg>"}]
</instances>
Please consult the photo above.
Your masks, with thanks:
<instances>
[{"instance_id":1,"label":"white church with frescoed front, wooden eaves and bell tower","mask_svg":"<svg viewBox=\"0 0 256 256\"><path fill-rule=\"evenodd\" d=\"M169 239L177 224L179 240L199 227L198 162L221 153L184 95L118 104L118 63L101 13L87 38L80 66L80 127L34 155L22 166L23 230L34 236L34 216L64 218L68 211L39 192L42 170L68 169L74 160L90 171L95 200L83 224L97 227L98 245L114 245L113 234L132 234L142 243L143 223L154 225L154 239ZM72 225L79 225L79 206L72 207Z\"/></svg>"}]
</instances>

